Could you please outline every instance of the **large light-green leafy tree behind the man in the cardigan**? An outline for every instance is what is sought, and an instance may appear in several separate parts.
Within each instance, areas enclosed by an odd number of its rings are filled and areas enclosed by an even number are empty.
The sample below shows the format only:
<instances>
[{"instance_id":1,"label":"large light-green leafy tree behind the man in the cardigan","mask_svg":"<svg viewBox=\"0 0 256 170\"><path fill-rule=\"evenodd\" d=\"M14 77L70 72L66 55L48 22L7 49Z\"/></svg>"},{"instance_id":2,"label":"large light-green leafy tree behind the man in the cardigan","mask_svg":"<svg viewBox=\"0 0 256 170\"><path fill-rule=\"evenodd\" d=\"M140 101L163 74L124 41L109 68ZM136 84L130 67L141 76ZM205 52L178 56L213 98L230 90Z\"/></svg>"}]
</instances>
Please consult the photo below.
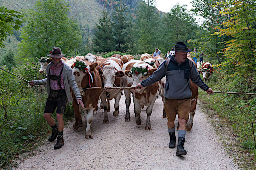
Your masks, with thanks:
<instances>
[{"instance_id":1,"label":"large light-green leafy tree behind the man in the cardigan","mask_svg":"<svg viewBox=\"0 0 256 170\"><path fill-rule=\"evenodd\" d=\"M78 24L68 18L68 12L63 0L39 0L33 9L26 10L19 56L33 59L45 56L54 46L61 47L67 55L77 54L82 37Z\"/></svg>"}]
</instances>

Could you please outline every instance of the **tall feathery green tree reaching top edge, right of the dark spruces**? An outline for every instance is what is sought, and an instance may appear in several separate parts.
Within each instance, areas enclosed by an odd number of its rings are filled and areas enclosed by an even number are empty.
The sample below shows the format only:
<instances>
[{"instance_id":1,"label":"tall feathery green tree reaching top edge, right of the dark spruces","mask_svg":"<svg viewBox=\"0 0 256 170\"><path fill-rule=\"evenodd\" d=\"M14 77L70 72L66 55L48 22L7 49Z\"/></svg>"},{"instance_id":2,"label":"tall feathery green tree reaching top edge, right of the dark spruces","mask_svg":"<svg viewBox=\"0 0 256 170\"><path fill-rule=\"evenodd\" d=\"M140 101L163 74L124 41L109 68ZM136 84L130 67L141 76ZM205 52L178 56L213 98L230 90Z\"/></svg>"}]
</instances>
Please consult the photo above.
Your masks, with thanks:
<instances>
[{"instance_id":1,"label":"tall feathery green tree reaching top edge, right of the dark spruces","mask_svg":"<svg viewBox=\"0 0 256 170\"><path fill-rule=\"evenodd\" d=\"M136 30L138 35L139 52L153 52L159 41L159 15L154 0L139 2L136 12Z\"/></svg>"}]
</instances>

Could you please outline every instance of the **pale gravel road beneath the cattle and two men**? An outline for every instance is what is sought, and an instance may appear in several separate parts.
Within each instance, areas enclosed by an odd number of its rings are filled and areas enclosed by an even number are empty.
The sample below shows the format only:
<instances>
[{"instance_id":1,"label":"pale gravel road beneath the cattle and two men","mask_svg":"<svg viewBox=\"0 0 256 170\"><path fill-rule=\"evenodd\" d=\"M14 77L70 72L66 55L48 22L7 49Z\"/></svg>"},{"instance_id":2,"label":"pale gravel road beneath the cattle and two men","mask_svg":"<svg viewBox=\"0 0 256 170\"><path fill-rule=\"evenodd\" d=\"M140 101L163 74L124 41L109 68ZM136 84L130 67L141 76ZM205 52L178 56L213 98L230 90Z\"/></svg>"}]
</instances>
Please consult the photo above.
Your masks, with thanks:
<instances>
[{"instance_id":1,"label":"pale gravel road beneath the cattle and two men","mask_svg":"<svg viewBox=\"0 0 256 170\"><path fill-rule=\"evenodd\" d=\"M151 115L152 130L148 131L145 130L146 107L141 113L140 126L135 123L133 104L130 106L131 122L124 121L124 99L122 96L118 117L112 114L114 101L111 101L109 124L103 124L102 109L94 113L93 139L85 139L85 127L74 130L73 122L69 122L64 128L62 148L54 150L55 142L46 141L36 155L21 162L18 169L236 169L199 107L194 126L186 134L187 155L177 157L176 148L168 147L162 100L156 99ZM83 120L85 126L86 114Z\"/></svg>"}]
</instances>

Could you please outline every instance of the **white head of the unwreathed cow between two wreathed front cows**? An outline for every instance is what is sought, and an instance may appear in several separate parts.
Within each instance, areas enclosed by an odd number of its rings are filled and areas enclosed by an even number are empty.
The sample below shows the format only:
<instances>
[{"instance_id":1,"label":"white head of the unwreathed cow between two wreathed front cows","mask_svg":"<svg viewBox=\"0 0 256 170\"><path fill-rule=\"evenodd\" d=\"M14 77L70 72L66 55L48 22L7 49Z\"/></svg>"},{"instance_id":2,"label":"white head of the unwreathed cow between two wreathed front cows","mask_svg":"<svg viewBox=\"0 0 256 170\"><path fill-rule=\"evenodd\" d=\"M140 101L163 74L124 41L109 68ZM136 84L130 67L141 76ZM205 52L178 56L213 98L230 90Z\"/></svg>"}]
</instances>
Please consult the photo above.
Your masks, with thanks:
<instances>
[{"instance_id":1,"label":"white head of the unwreathed cow between two wreathed front cows","mask_svg":"<svg viewBox=\"0 0 256 170\"><path fill-rule=\"evenodd\" d=\"M100 74L102 75L102 80L105 88L113 87L116 77L123 77L124 73L122 71L115 70L112 65L105 65L100 69ZM110 92L112 89L105 89L105 91Z\"/></svg>"}]
</instances>

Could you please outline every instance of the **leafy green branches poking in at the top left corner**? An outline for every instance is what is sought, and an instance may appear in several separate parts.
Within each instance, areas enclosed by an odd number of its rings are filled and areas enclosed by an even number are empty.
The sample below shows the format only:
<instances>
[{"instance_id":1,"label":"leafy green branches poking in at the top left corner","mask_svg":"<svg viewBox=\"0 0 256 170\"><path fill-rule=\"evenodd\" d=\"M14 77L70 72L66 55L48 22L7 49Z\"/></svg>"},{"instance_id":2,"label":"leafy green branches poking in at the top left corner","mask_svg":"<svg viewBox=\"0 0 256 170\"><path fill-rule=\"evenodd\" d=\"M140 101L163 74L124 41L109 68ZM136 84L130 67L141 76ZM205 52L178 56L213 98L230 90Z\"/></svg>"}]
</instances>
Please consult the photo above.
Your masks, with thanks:
<instances>
[{"instance_id":1,"label":"leafy green branches poking in at the top left corner","mask_svg":"<svg viewBox=\"0 0 256 170\"><path fill-rule=\"evenodd\" d=\"M13 30L19 30L22 21L20 12L8 10L4 6L0 7L0 47L4 48L3 41L7 35L12 34Z\"/></svg>"}]
</instances>

